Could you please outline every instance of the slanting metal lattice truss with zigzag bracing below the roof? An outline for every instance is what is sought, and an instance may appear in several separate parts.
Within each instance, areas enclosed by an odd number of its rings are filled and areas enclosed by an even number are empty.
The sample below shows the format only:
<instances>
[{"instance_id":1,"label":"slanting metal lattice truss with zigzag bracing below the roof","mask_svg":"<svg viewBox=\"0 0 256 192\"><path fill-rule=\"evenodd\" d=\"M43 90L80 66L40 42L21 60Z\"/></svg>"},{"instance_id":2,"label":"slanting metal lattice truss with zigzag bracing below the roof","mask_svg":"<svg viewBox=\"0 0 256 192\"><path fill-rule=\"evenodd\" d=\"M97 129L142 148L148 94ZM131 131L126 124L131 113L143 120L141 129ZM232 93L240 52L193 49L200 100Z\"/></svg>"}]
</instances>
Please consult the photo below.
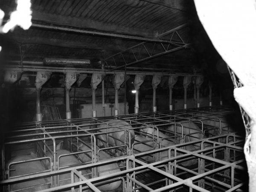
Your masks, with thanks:
<instances>
[{"instance_id":1,"label":"slanting metal lattice truss with zigzag bracing below the roof","mask_svg":"<svg viewBox=\"0 0 256 192\"><path fill-rule=\"evenodd\" d=\"M158 57L160 55L165 55L180 49L188 48L190 44L185 43L183 38L181 38L180 34L177 32L177 30L182 29L186 26L187 24L183 24L181 26L175 27L174 29L171 29L167 32L158 35L159 38L164 37L166 35L171 35L170 41L168 43L154 42L153 44L148 42L142 42L122 52L116 53L115 55L111 55L105 58L105 64L108 68L108 71L117 70L123 67L127 67L133 64L140 63L142 61ZM176 38L179 40L172 41L174 36L176 36ZM123 65L118 66L116 58L121 58L123 60ZM113 69L109 69L111 66L110 63L113 63L116 67Z\"/></svg>"}]
</instances>

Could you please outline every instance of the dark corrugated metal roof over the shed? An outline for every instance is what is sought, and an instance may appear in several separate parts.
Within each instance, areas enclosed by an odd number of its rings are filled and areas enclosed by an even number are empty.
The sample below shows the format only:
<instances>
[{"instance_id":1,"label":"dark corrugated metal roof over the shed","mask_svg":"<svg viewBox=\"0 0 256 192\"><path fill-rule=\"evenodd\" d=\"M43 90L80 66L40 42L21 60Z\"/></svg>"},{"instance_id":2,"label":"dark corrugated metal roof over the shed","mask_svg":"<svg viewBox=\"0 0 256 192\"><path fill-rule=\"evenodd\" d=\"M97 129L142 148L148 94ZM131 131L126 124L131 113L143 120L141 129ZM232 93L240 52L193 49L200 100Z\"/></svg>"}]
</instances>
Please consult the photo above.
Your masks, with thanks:
<instances>
[{"instance_id":1,"label":"dark corrugated metal roof over the shed","mask_svg":"<svg viewBox=\"0 0 256 192\"><path fill-rule=\"evenodd\" d=\"M157 4L154 0L31 0L31 2L32 22L35 24L137 37L157 38L157 35L191 20L189 12L172 9L170 6L163 5L164 3ZM2 0L0 8L9 13L15 8L15 0ZM178 32L187 42L189 28L184 27ZM163 39L169 40L171 36L172 34L167 35ZM19 59L18 47L33 44L32 47L25 46L23 57L38 61L50 56L100 60L142 42L38 27L31 27L27 31L15 29L4 38L6 38L4 40L6 44L13 43L13 47L3 49L7 59ZM173 35L172 41L180 41L177 34ZM148 44L151 44L151 47L154 46L154 43ZM155 47L158 52L162 51L160 45ZM145 51L142 53L146 54ZM196 59L192 55L191 50L186 49L182 54L175 52L160 56L157 58L158 62L154 59L143 63L155 62L157 65L157 63L163 64L169 61L170 64L177 64L181 63L177 61L179 58ZM143 63L137 66L142 66ZM189 62L183 62L183 65L188 64Z\"/></svg>"}]
</instances>

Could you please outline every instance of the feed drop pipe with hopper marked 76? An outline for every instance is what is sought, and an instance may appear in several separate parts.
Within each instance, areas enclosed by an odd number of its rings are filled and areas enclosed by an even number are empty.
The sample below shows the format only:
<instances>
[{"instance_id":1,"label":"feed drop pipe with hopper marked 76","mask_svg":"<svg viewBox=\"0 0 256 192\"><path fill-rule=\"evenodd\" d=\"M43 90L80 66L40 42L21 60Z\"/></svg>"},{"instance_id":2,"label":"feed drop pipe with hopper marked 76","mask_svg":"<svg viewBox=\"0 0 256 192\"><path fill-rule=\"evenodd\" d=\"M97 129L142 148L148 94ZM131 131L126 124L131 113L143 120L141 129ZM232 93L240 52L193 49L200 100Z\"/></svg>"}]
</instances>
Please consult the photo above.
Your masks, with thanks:
<instances>
[{"instance_id":1,"label":"feed drop pipe with hopper marked 76","mask_svg":"<svg viewBox=\"0 0 256 192\"><path fill-rule=\"evenodd\" d=\"M97 111L96 111L96 89L97 86L101 83L103 80L103 73L93 73L92 79L91 79L91 87L92 87L92 117L97 117Z\"/></svg>"}]
</instances>

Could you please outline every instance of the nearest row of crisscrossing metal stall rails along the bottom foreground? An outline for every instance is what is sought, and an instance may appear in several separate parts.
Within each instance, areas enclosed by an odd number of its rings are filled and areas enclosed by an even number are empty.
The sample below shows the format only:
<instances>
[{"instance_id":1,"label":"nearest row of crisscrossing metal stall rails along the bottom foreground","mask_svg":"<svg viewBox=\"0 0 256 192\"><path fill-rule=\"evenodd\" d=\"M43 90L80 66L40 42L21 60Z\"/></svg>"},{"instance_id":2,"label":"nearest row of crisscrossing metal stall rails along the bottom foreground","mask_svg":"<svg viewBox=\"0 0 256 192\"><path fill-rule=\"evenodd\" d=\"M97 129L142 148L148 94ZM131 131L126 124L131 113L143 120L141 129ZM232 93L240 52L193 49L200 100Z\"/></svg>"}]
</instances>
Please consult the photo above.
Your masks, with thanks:
<instances>
[{"instance_id":1,"label":"nearest row of crisscrossing metal stall rails along the bottom foreground","mask_svg":"<svg viewBox=\"0 0 256 192\"><path fill-rule=\"evenodd\" d=\"M229 143L218 143L215 139L219 137L232 137L233 141ZM102 181L109 180L115 181L115 179L122 180L125 185L123 185L125 191L165 191L173 190L184 191L189 189L196 189L198 191L242 191L246 188L246 183L244 178L240 178L239 175L246 172L244 168L245 160L231 155L226 160L221 160L216 155L217 150L226 151L228 148L230 151L236 151L236 154L243 153L243 140L236 136L235 134L228 134L225 136L217 136L212 139L203 139L197 142L198 145L201 145L201 149L197 151L186 151L183 148L183 144L178 144L174 146L169 146L165 148L159 148L156 150L148 151L149 153L159 153L163 151L168 151L168 158L159 160L154 163L144 163L138 158L140 154L128 155L123 157L116 157L110 160L103 160L97 163L83 164L76 167L68 167L56 171L44 172L44 173L35 173L33 179L39 177L51 177L54 175L61 175L65 172L68 172L71 175L77 175L79 181L71 182L61 186L55 186L53 188L44 189L42 191L55 191L59 189L71 189L72 187L80 186L81 190L86 190L88 187L93 191L99 191ZM207 145L206 145L207 143ZM211 144L212 146L210 146ZM205 147L207 146L207 147ZM172 151L174 156L172 156ZM182 162L189 157L198 159L198 165L194 169L189 169L186 166L182 165ZM113 162L113 160L125 160L126 168L122 171L111 173L104 176L86 178L79 173L80 170L89 169L95 166L102 166ZM148 174L154 172L154 177L160 179L154 182L149 182L140 179L140 175ZM8 180L2 180L1 185L12 184L12 182L23 181L31 178L28 175L23 177L16 177Z\"/></svg>"}]
</instances>

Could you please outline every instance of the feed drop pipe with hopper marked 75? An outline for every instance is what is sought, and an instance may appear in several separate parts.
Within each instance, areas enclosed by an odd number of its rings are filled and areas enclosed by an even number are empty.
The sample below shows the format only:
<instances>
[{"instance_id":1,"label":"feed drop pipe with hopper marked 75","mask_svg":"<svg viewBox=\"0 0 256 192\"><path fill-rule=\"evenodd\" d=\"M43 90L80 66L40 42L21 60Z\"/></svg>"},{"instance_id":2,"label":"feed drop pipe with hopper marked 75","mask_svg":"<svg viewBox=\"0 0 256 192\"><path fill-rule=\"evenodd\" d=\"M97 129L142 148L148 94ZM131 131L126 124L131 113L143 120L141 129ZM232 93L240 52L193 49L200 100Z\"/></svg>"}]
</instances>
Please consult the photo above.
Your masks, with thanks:
<instances>
[{"instance_id":1,"label":"feed drop pipe with hopper marked 75","mask_svg":"<svg viewBox=\"0 0 256 192\"><path fill-rule=\"evenodd\" d=\"M70 111L70 90L72 85L78 79L79 73L66 73L65 76L65 91L66 91L66 119L71 119L71 111Z\"/></svg>"}]
</instances>

